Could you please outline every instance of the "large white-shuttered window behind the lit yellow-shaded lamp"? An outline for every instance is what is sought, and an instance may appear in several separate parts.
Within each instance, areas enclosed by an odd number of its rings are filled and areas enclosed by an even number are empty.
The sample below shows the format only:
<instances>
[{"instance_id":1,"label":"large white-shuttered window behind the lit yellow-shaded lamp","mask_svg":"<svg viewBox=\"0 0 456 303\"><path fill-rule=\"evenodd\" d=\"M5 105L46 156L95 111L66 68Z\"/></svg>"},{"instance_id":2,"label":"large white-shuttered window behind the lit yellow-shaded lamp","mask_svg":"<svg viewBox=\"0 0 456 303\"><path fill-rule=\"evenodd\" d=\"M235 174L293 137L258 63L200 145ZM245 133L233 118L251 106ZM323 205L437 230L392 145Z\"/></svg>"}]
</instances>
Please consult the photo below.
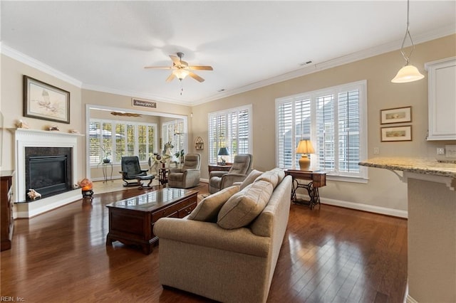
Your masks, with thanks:
<instances>
[{"instance_id":1,"label":"large white-shuttered window behind the lit yellow-shaded lamp","mask_svg":"<svg viewBox=\"0 0 456 303\"><path fill-rule=\"evenodd\" d=\"M367 155L366 81L276 99L276 161L299 169L296 147L311 139L314 169L328 176L367 178L358 162Z\"/></svg>"}]
</instances>

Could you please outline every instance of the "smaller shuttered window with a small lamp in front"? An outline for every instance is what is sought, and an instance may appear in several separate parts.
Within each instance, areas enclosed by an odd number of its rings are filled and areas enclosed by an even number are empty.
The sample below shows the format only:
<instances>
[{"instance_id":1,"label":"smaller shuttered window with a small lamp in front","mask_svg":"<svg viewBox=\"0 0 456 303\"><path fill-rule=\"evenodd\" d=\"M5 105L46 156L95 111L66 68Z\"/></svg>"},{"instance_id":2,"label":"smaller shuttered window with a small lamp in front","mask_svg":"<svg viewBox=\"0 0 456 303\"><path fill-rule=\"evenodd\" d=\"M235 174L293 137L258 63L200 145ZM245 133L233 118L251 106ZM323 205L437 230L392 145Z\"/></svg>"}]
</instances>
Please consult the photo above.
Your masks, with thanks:
<instances>
[{"instance_id":1,"label":"smaller shuttered window with a small lamp in front","mask_svg":"<svg viewBox=\"0 0 456 303\"><path fill-rule=\"evenodd\" d=\"M252 105L209 113L209 163L215 164L220 147L228 147L232 162L237 154L252 154Z\"/></svg>"}]
</instances>

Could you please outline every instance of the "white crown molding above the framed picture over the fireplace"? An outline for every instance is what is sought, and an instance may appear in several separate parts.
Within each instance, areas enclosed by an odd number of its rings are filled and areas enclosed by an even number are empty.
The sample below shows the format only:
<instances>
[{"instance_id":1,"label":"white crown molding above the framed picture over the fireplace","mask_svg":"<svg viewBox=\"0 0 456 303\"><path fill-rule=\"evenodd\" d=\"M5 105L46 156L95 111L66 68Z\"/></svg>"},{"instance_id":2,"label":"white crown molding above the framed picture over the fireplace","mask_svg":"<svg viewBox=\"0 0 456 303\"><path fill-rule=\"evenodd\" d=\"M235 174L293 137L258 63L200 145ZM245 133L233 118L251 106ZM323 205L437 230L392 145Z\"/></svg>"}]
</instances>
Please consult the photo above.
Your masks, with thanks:
<instances>
[{"instance_id":1,"label":"white crown molding above the framed picture over the fireplace","mask_svg":"<svg viewBox=\"0 0 456 303\"><path fill-rule=\"evenodd\" d=\"M52 68L51 66L42 63L41 61L38 61L35 58L31 58L29 55L21 53L18 50L15 50L14 48L10 48L2 42L0 42L0 53L10 58L13 58L14 60L17 60L21 63L24 63L28 66L31 66L32 68L36 68L37 70L40 70L43 73L46 73L67 83L70 83L76 87L81 88L83 85L83 83L80 80L73 78L69 75L66 75L66 73L62 73L60 70L56 70L55 68Z\"/></svg>"}]
</instances>

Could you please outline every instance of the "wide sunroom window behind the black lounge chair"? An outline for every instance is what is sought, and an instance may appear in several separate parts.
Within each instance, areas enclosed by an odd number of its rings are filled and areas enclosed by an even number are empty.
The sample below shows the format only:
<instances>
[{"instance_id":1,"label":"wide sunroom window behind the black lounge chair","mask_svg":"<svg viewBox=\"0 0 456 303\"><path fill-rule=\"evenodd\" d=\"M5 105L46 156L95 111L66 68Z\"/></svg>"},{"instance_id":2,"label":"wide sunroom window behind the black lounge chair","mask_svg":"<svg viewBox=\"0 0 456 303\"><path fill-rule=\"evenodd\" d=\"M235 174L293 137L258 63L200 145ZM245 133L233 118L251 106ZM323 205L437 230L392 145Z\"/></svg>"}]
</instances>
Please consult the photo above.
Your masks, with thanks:
<instances>
[{"instance_id":1,"label":"wide sunroom window behind the black lounge chair","mask_svg":"<svg viewBox=\"0 0 456 303\"><path fill-rule=\"evenodd\" d=\"M90 165L100 164L105 152L113 163L120 164L122 156L147 161L157 151L157 124L90 119L89 132Z\"/></svg>"}]
</instances>

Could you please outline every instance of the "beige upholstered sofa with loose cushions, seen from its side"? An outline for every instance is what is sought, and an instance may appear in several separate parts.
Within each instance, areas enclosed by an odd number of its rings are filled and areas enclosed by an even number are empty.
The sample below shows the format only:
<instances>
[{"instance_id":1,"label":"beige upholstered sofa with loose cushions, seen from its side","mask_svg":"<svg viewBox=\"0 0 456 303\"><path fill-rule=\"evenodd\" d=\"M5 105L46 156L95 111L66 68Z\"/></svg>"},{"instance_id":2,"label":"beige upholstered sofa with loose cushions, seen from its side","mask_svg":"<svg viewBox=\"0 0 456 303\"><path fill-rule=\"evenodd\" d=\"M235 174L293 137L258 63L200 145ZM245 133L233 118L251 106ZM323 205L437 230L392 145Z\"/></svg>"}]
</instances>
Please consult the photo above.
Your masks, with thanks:
<instances>
[{"instance_id":1,"label":"beige upholstered sofa with loose cushions, seen from its side","mask_svg":"<svg viewBox=\"0 0 456 303\"><path fill-rule=\"evenodd\" d=\"M214 193L184 219L155 223L162 285L220 302L266 302L289 218L291 176L274 169L247 185L251 179Z\"/></svg>"}]
</instances>

